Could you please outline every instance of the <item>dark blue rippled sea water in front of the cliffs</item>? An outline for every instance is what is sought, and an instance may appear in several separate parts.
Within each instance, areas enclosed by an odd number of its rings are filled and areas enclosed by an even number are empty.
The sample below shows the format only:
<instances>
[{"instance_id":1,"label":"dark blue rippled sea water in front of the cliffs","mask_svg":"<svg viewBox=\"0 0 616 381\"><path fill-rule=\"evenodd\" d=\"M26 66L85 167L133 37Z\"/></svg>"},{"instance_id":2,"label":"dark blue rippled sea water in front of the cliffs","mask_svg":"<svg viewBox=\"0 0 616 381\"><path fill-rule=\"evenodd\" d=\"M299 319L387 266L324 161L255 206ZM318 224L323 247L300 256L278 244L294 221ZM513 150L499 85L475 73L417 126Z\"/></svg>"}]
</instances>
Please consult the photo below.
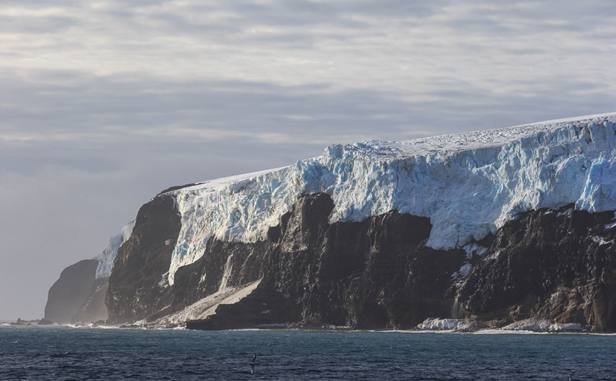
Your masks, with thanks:
<instances>
[{"instance_id":1,"label":"dark blue rippled sea water in front of the cliffs","mask_svg":"<svg viewBox=\"0 0 616 381\"><path fill-rule=\"evenodd\" d=\"M616 336L0 328L0 380L568 380L573 370L616 380Z\"/></svg>"}]
</instances>

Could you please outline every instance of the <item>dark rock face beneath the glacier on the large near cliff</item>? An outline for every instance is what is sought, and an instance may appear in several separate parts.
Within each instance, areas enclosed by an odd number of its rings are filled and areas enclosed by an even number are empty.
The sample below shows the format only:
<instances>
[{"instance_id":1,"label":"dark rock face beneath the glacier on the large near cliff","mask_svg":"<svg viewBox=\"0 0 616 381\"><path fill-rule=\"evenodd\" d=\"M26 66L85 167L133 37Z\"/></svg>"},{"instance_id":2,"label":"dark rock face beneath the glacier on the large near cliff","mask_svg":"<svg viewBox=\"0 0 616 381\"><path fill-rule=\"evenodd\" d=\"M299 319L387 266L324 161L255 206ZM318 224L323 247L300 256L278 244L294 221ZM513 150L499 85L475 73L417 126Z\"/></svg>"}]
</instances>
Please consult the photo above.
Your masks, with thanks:
<instances>
[{"instance_id":1,"label":"dark rock face beneath the glacier on the large near cliff","mask_svg":"<svg viewBox=\"0 0 616 381\"><path fill-rule=\"evenodd\" d=\"M428 317L502 326L541 316L616 330L612 212L527 212L472 242L483 250L471 256L424 246L431 231L425 217L391 211L329 224L333 207L329 195L304 195L266 241L210 239L202 258L180 268L170 286L161 275L180 220L172 198L159 195L142 207L133 237L116 257L106 297L109 322L151 322L224 287L260 280L248 297L187 326L299 322L409 329Z\"/></svg>"}]
</instances>

